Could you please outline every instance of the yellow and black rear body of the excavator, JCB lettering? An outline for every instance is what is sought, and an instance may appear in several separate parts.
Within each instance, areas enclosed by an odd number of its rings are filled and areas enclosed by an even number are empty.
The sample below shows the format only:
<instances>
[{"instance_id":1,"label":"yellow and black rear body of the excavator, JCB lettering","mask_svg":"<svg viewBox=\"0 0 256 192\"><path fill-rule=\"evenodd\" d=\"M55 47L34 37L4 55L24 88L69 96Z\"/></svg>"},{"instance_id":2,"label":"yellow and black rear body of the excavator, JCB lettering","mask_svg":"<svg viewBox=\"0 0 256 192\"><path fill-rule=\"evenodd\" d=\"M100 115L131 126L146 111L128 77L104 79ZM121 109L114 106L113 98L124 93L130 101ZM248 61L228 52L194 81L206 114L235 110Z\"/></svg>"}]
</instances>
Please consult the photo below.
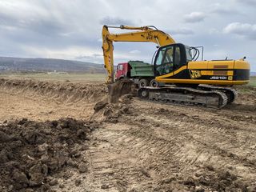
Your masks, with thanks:
<instances>
[{"instance_id":1,"label":"yellow and black rear body of the excavator, JCB lettering","mask_svg":"<svg viewBox=\"0 0 256 192\"><path fill-rule=\"evenodd\" d=\"M188 62L155 79L178 84L243 85L250 81L250 64L244 60Z\"/></svg>"}]
</instances>

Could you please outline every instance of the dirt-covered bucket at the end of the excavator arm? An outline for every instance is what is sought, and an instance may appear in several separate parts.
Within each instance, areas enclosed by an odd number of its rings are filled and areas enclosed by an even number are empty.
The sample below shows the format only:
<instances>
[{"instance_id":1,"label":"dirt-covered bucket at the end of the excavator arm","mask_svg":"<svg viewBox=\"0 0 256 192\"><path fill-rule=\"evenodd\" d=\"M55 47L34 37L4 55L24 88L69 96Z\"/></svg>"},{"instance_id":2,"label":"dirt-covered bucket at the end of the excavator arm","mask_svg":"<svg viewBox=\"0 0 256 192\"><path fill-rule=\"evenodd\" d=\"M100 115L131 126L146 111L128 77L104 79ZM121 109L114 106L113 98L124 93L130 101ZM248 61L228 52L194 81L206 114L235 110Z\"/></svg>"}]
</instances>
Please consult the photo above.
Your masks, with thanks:
<instances>
[{"instance_id":1,"label":"dirt-covered bucket at the end of the excavator arm","mask_svg":"<svg viewBox=\"0 0 256 192\"><path fill-rule=\"evenodd\" d=\"M124 94L136 93L134 82L129 79L122 79L108 85L108 102L115 103Z\"/></svg>"}]
</instances>

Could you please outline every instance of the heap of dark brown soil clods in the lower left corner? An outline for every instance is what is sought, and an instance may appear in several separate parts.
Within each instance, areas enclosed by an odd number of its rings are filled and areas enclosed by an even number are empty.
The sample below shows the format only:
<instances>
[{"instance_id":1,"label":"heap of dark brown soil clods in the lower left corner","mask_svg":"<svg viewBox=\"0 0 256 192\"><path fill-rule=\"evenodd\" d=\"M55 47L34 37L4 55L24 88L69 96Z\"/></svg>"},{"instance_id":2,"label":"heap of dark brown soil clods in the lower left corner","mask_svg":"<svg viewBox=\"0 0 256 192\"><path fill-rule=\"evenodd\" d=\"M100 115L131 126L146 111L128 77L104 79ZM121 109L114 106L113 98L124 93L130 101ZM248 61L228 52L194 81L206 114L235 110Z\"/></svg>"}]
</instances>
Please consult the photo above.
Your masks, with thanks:
<instances>
[{"instance_id":1,"label":"heap of dark brown soil clods in the lower left corner","mask_svg":"<svg viewBox=\"0 0 256 192\"><path fill-rule=\"evenodd\" d=\"M96 122L73 118L52 122L22 119L1 125L0 190L47 191L57 184L54 174L67 166L85 172L81 152L86 150L87 134L97 127Z\"/></svg>"}]
</instances>

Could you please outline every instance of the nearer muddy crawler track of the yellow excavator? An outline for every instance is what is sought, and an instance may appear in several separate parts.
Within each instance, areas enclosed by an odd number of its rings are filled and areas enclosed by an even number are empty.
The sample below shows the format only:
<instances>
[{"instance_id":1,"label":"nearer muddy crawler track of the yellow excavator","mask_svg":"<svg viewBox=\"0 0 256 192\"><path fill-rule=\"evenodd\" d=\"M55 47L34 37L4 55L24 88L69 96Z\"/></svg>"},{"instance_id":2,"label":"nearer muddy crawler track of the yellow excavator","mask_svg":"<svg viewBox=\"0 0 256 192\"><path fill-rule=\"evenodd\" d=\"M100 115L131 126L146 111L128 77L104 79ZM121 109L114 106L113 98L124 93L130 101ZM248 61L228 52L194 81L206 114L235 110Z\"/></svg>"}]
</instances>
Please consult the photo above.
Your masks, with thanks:
<instances>
[{"instance_id":1,"label":"nearer muddy crawler track of the yellow excavator","mask_svg":"<svg viewBox=\"0 0 256 192\"><path fill-rule=\"evenodd\" d=\"M174 105L206 106L221 109L228 103L228 97L220 90L198 90L190 87L142 87L138 97L154 102Z\"/></svg>"}]
</instances>

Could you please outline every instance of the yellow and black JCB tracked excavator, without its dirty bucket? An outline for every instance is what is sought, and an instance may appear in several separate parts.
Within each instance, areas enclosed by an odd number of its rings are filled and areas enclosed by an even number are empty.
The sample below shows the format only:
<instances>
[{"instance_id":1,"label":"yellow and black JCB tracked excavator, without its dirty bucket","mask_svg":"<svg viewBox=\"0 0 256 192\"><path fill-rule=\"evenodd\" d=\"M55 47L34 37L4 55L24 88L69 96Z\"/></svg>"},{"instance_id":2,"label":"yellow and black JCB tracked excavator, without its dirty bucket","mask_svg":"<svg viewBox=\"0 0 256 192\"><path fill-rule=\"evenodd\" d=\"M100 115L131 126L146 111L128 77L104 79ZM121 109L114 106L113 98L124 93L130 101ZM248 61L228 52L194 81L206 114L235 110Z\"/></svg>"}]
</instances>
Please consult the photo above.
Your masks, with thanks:
<instances>
[{"instance_id":1,"label":"yellow and black JCB tracked excavator, without its dirty bucket","mask_svg":"<svg viewBox=\"0 0 256 192\"><path fill-rule=\"evenodd\" d=\"M135 31L110 34L109 28ZM250 64L245 58L197 61L200 54L197 47L176 43L154 26L103 26L102 50L108 84L114 83L113 42L154 42L159 46L152 64L154 86L141 86L139 98L222 108L237 96L230 86L244 85L250 80ZM159 86L160 83L164 86Z\"/></svg>"}]
</instances>

